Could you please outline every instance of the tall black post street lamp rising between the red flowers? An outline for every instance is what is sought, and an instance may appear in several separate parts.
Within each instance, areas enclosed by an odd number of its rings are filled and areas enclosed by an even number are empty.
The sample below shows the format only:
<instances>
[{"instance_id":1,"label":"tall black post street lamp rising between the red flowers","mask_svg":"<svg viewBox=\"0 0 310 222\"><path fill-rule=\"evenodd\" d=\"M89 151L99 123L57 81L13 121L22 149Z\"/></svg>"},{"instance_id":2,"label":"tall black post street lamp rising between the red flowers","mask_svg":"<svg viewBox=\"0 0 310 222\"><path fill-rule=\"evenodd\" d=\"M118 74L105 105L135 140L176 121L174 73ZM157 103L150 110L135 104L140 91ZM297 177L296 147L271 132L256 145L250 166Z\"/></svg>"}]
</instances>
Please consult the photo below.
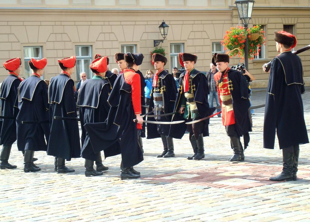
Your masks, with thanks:
<instances>
[{"instance_id":1,"label":"tall black post street lamp rising between the red flowers","mask_svg":"<svg viewBox=\"0 0 310 222\"><path fill-rule=\"evenodd\" d=\"M252 10L254 5L254 0L236 0L235 4L237 6L239 19L242 21L244 28L248 28L249 21L252 17ZM248 37L246 36L246 42L244 43L244 63L246 70L248 69Z\"/></svg>"}]
</instances>

